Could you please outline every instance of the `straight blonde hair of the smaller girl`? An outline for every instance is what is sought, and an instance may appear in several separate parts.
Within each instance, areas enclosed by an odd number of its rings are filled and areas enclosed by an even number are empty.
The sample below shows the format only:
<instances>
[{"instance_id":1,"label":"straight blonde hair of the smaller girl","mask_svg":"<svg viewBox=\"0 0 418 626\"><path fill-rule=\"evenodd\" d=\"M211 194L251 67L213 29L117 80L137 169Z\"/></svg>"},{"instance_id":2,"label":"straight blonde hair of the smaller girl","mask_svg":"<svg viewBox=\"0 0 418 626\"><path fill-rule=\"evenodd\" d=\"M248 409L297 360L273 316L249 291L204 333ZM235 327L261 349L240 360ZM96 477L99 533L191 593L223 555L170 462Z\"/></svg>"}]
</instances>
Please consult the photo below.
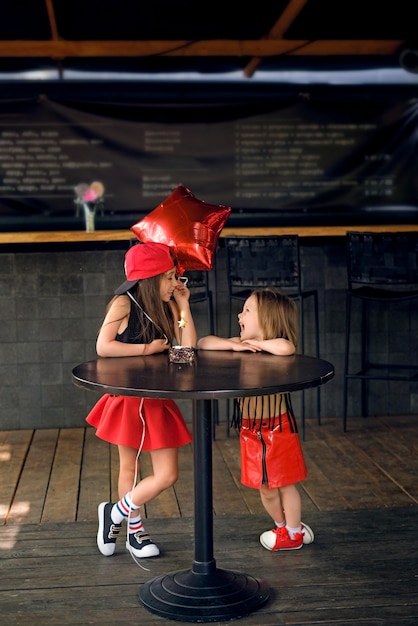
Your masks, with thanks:
<instances>
[{"instance_id":1,"label":"straight blonde hair of the smaller girl","mask_svg":"<svg viewBox=\"0 0 418 626\"><path fill-rule=\"evenodd\" d=\"M297 346L299 313L296 302L272 287L256 289L251 295L257 299L263 339L287 339Z\"/></svg>"}]
</instances>

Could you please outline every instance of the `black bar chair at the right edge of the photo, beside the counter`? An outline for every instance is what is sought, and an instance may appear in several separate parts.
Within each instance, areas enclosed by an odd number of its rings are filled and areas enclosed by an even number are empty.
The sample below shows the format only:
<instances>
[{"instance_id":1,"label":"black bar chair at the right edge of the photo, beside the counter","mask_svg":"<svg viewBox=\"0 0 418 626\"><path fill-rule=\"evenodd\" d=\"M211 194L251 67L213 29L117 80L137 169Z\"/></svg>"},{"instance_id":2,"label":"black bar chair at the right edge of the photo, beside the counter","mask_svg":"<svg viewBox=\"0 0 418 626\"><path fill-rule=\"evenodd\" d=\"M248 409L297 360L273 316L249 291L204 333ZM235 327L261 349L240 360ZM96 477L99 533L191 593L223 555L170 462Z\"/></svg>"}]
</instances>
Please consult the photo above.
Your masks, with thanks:
<instances>
[{"instance_id":1,"label":"black bar chair at the right edge of the photo, beside the counter","mask_svg":"<svg viewBox=\"0 0 418 626\"><path fill-rule=\"evenodd\" d=\"M400 303L418 299L418 231L417 232L356 232L346 233L347 280L346 332L344 361L343 429L347 430L348 383L361 381L361 410L368 415L368 382L416 381L418 365L391 362L389 350L378 360L377 333L382 332L384 320L393 320L392 328L401 324ZM360 302L359 369L351 367L353 300ZM372 303L379 303L372 321ZM409 306L409 305L408 305ZM375 306L376 311L376 306ZM393 316L396 316L393 317ZM384 316L387 316L386 318ZM392 317L390 317L392 316ZM373 331L374 334L373 334ZM389 333L387 333L389 335ZM373 339L374 344L373 345ZM412 340L412 337L411 337ZM406 346L403 345L402 349ZM405 350L406 352L407 350ZM374 353L374 354L373 354ZM374 360L376 359L376 361ZM353 359L351 359L353 360ZM382 362L385 361L385 362Z\"/></svg>"}]
</instances>

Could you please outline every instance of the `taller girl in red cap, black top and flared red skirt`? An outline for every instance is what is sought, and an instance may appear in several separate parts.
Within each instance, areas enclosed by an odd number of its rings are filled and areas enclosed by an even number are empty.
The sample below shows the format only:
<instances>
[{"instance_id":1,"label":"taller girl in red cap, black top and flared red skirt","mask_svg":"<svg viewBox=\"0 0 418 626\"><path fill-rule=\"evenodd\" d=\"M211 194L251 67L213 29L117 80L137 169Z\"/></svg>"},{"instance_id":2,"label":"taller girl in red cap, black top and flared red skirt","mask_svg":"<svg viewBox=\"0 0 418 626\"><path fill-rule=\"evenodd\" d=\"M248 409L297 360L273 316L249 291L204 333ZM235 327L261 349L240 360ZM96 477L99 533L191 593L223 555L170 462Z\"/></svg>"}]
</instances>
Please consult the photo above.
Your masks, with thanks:
<instances>
[{"instance_id":1,"label":"taller girl in red cap, black top and flared red skirt","mask_svg":"<svg viewBox=\"0 0 418 626\"><path fill-rule=\"evenodd\" d=\"M155 242L132 246L125 255L125 273L128 280L116 289L97 337L98 355L146 358L168 350L179 343L181 316L186 321L182 344L196 346L190 292L177 279L170 248ZM125 519L128 550L140 558L157 556L160 551L146 534L139 510L178 478L178 448L191 441L178 406L168 399L105 394L86 420L98 437L116 444L119 451L120 500L99 505L100 552L114 554ZM136 484L141 450L150 451L153 474Z\"/></svg>"}]
</instances>

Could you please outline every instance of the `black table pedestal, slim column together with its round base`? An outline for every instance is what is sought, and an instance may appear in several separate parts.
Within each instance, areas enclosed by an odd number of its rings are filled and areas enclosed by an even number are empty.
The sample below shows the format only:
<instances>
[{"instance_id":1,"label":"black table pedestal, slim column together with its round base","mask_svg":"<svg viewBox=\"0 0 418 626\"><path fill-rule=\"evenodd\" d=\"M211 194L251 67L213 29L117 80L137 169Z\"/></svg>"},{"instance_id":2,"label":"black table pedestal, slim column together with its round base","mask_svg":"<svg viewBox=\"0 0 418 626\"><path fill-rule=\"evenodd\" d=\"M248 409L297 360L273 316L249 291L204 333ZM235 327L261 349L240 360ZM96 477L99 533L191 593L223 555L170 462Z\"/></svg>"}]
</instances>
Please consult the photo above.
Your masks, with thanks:
<instances>
[{"instance_id":1,"label":"black table pedestal, slim column together with its round base","mask_svg":"<svg viewBox=\"0 0 418 626\"><path fill-rule=\"evenodd\" d=\"M209 400L193 411L195 558L192 568L157 576L139 598L151 613L184 622L238 619L270 596L264 580L219 569L213 557L212 418Z\"/></svg>"}]
</instances>

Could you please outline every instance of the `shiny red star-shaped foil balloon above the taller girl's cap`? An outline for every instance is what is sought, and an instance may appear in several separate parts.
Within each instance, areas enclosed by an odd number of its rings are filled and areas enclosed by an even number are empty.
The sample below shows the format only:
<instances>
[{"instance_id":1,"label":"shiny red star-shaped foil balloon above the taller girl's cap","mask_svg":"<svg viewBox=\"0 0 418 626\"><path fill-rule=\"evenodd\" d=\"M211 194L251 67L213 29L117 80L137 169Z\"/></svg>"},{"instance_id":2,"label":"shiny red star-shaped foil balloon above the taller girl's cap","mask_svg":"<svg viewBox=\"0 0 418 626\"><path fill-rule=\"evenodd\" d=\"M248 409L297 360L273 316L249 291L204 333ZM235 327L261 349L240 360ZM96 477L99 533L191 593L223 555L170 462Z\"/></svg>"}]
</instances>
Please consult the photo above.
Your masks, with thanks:
<instances>
[{"instance_id":1,"label":"shiny red star-shaped foil balloon above the taller girl's cap","mask_svg":"<svg viewBox=\"0 0 418 626\"><path fill-rule=\"evenodd\" d=\"M182 275L187 270L212 269L218 237L230 213L231 207L198 200L179 185L131 230L140 241L170 246Z\"/></svg>"}]
</instances>

